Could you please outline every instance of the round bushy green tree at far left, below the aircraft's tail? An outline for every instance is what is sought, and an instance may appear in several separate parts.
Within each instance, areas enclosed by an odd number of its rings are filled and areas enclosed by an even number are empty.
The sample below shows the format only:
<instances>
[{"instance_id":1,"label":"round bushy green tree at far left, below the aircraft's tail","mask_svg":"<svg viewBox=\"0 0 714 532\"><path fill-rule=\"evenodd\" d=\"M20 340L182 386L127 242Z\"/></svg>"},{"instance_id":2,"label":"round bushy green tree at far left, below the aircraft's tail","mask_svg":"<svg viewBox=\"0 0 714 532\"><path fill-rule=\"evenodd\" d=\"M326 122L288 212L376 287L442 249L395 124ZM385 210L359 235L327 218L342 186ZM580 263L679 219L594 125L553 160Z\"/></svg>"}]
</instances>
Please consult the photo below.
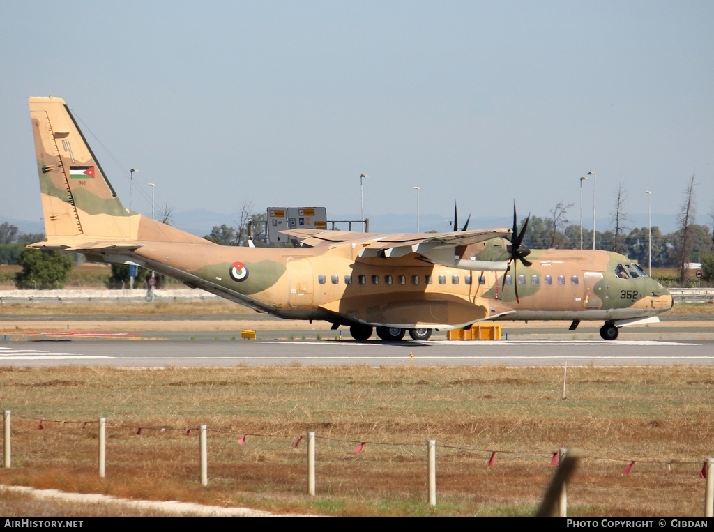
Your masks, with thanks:
<instances>
[{"instance_id":1,"label":"round bushy green tree at far left, below the aircraft's tail","mask_svg":"<svg viewBox=\"0 0 714 532\"><path fill-rule=\"evenodd\" d=\"M74 266L71 256L61 251L24 249L17 260L22 266L15 276L18 288L61 288Z\"/></svg>"}]
</instances>

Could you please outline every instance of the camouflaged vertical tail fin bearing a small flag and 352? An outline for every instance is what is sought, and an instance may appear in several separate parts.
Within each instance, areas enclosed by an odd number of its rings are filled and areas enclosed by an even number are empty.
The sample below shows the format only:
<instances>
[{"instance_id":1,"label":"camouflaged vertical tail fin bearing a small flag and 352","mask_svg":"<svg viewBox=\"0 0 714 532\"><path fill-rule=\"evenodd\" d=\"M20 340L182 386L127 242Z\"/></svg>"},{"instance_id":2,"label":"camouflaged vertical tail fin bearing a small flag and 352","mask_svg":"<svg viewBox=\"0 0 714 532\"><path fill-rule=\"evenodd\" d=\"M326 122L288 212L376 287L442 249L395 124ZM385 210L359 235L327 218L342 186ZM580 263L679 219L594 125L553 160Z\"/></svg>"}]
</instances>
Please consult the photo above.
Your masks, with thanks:
<instances>
[{"instance_id":1,"label":"camouflaged vertical tail fin bearing a small flag and 352","mask_svg":"<svg viewBox=\"0 0 714 532\"><path fill-rule=\"evenodd\" d=\"M203 239L126 209L79 129L54 96L29 99L48 242Z\"/></svg>"}]
</instances>

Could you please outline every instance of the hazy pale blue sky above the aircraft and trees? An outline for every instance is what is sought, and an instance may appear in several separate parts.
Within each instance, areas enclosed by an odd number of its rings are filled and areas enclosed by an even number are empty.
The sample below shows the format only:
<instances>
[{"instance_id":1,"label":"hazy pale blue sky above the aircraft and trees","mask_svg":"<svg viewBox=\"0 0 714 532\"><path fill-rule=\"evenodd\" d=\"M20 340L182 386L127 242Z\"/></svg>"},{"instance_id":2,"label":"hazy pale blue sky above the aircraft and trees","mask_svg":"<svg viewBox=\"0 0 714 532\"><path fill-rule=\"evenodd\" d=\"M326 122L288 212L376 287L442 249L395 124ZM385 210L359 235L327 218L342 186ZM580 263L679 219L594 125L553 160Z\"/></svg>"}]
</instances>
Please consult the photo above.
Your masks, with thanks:
<instances>
[{"instance_id":1,"label":"hazy pale blue sky above the aircraft and trees","mask_svg":"<svg viewBox=\"0 0 714 532\"><path fill-rule=\"evenodd\" d=\"M675 213L695 174L706 223L713 27L711 1L3 1L0 216L41 217L26 98L53 94L147 214L154 183L176 211L358 215L365 173L366 216L420 186L422 214L575 221L595 171L598 219L620 180Z\"/></svg>"}]
</instances>

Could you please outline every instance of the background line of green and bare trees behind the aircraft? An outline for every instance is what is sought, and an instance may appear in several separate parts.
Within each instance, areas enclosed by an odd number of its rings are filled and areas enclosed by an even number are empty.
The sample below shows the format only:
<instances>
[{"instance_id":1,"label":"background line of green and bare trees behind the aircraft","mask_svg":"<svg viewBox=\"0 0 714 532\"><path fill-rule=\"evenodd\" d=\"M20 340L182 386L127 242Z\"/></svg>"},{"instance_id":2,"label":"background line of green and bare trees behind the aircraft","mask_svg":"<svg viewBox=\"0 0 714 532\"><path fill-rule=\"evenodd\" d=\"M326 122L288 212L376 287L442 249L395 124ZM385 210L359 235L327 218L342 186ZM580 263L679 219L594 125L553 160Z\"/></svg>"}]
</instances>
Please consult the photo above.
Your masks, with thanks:
<instances>
[{"instance_id":1,"label":"background line of green and bare trees behind the aircraft","mask_svg":"<svg viewBox=\"0 0 714 532\"><path fill-rule=\"evenodd\" d=\"M611 227L606 231L595 231L594 241L593 231L582 228L581 235L580 225L570 224L567 215L574 204L560 201L550 210L549 216L531 216L528 219L523 244L531 249L580 249L582 245L583 249L615 251L628 256L646 271L650 264L650 228L628 228L626 199L627 191L620 182L611 213ZM663 234L658 226L651 228L652 267L676 268L679 272L677 281L682 285L690 276L687 266L692 262L701 263L705 280L714 281L714 209L709 213L709 226L694 223L695 209L695 177L692 176L683 194L678 229ZM266 219L266 213L253 213L253 203L246 201L239 219L233 221L234 225L213 226L203 238L223 246L246 246L250 232L254 245L258 247L281 245L268 244ZM521 227L525 223L526 219L521 220ZM19 232L17 226L0 224L0 264L23 266L23 271L16 278L20 288L56 288L64 283L66 273L74 262L68 254L25 249L26 244L41 240L44 240L44 234L25 234ZM128 267L112 268L111 283L124 286L125 280L128 281Z\"/></svg>"}]
</instances>

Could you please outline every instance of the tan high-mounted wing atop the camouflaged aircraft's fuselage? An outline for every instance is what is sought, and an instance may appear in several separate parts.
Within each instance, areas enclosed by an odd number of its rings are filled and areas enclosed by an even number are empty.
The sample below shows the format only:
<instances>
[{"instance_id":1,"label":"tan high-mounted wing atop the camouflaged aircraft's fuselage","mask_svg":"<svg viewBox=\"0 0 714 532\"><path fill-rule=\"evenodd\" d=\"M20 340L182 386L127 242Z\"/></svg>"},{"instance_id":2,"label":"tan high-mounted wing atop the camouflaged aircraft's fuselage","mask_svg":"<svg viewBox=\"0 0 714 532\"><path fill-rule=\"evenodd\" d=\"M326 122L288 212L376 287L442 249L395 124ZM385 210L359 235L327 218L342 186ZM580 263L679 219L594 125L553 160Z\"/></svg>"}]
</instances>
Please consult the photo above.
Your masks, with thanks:
<instances>
[{"instance_id":1,"label":"tan high-mounted wing atop the camouflaged aircraft's fuselage","mask_svg":"<svg viewBox=\"0 0 714 532\"><path fill-rule=\"evenodd\" d=\"M351 231L321 231L288 229L281 231L301 241L303 246L351 243L359 249L358 258L391 258L416 254L416 259L452 268L478 271L506 271L508 261L471 261L456 256L458 246L478 244L491 239L506 238L512 229L476 229L452 233L371 234Z\"/></svg>"}]
</instances>

